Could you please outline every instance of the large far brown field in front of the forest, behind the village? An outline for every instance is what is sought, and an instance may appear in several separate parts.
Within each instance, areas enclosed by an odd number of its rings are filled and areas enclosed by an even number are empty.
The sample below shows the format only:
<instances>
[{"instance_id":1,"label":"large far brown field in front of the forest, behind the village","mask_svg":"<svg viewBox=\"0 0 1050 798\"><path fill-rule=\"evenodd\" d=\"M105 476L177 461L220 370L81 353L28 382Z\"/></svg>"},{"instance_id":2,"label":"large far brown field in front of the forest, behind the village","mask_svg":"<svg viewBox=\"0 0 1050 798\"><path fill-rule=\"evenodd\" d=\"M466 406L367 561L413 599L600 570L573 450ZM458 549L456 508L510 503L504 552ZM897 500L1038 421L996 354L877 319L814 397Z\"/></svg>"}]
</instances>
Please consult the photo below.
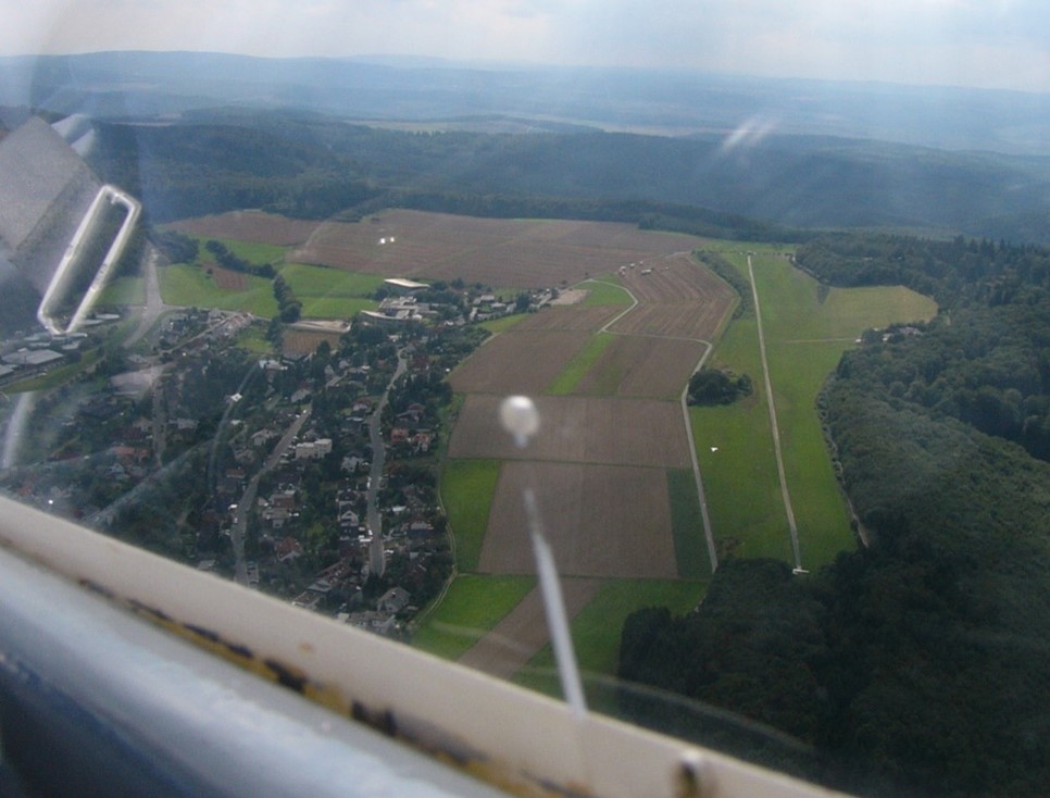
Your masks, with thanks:
<instances>
[{"instance_id":1,"label":"large far brown field in front of the forest, behind the village","mask_svg":"<svg viewBox=\"0 0 1050 798\"><path fill-rule=\"evenodd\" d=\"M395 210L366 222L326 222L289 260L385 276L500 287L578 283L622 265L691 250L701 239L634 225L501 220Z\"/></svg>"}]
</instances>

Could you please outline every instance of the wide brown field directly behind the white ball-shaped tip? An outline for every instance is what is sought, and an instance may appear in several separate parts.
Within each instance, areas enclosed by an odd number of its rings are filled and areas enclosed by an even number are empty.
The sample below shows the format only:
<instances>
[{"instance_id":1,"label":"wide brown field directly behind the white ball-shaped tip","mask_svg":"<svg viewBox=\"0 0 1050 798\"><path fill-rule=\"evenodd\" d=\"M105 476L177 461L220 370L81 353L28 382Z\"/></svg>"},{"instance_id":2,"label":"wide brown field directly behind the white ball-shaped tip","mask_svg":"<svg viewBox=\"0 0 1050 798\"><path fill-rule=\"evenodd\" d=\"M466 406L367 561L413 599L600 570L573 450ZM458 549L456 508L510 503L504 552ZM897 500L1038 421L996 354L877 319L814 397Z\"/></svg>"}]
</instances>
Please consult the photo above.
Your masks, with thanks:
<instances>
[{"instance_id":1,"label":"wide brown field directly behind the white ball-shaped tip","mask_svg":"<svg viewBox=\"0 0 1050 798\"><path fill-rule=\"evenodd\" d=\"M502 396L467 396L449 457L690 467L676 402L538 396L540 431L520 449L500 426L500 401Z\"/></svg>"}]
</instances>

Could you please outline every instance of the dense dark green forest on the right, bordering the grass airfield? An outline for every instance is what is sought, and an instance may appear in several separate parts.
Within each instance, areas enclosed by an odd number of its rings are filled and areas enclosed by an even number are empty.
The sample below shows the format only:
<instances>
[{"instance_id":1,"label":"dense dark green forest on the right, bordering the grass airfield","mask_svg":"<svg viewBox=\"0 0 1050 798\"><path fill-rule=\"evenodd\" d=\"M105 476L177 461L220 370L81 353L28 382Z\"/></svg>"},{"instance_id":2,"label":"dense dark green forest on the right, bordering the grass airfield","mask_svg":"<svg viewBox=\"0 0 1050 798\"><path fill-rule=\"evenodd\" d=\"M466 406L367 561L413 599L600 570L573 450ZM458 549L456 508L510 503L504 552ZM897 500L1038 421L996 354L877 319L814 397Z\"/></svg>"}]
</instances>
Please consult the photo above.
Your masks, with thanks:
<instances>
[{"instance_id":1,"label":"dense dark green forest on the right, bordering the grass airfield","mask_svg":"<svg viewBox=\"0 0 1050 798\"><path fill-rule=\"evenodd\" d=\"M867 334L821 397L867 543L804 576L729 560L697 612L628 618L620 663L796 744L716 712L624 709L863 795L1043 795L1050 252L841 235L797 258L834 284L941 301L929 325Z\"/></svg>"}]
</instances>

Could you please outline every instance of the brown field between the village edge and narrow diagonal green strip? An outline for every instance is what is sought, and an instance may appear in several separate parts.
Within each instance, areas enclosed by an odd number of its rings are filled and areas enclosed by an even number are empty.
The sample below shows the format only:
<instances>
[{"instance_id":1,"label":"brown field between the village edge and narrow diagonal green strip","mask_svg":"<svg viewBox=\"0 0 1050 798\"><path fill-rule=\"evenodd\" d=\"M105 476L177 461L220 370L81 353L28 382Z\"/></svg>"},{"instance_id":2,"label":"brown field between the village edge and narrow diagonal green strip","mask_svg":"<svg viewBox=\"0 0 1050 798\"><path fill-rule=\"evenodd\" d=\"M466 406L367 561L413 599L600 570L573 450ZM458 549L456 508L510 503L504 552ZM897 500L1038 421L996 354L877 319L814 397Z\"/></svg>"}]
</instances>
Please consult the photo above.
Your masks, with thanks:
<instances>
[{"instance_id":1,"label":"brown field between the village edge and narrow diagonal green strip","mask_svg":"<svg viewBox=\"0 0 1050 798\"><path fill-rule=\"evenodd\" d=\"M504 333L462 363L449 379L465 394L540 394L586 344L588 333Z\"/></svg>"}]
</instances>

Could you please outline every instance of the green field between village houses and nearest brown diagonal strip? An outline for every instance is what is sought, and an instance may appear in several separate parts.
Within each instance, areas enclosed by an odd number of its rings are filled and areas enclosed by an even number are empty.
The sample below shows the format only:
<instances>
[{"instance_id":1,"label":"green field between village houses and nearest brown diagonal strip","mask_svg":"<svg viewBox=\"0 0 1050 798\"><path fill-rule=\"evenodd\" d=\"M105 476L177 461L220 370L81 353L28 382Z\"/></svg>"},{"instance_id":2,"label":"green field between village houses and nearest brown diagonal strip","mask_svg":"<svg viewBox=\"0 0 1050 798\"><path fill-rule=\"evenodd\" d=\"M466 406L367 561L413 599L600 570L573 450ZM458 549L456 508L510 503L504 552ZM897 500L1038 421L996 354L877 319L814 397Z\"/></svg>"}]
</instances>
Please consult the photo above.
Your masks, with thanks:
<instances>
[{"instance_id":1,"label":"green field between village houses and nearest brown diagonal strip","mask_svg":"<svg viewBox=\"0 0 1050 798\"><path fill-rule=\"evenodd\" d=\"M413 633L412 645L455 660L503 620L536 585L533 576L463 574Z\"/></svg>"}]
</instances>

